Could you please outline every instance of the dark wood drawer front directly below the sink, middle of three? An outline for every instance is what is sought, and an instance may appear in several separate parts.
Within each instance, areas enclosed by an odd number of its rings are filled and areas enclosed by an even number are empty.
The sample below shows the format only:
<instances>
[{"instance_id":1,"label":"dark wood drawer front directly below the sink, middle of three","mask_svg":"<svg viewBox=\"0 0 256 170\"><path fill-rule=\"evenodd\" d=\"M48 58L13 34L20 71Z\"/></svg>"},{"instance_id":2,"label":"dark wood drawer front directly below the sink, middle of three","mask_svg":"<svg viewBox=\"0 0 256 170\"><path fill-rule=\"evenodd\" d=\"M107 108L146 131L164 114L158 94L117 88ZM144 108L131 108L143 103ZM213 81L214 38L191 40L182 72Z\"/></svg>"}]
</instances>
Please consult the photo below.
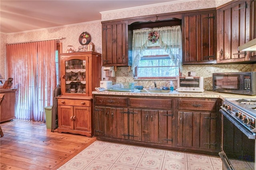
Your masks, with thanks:
<instances>
[{"instance_id":1,"label":"dark wood drawer front directly below the sink, middle of three","mask_svg":"<svg viewBox=\"0 0 256 170\"><path fill-rule=\"evenodd\" d=\"M170 109L172 108L172 100L130 98L130 107Z\"/></svg>"}]
</instances>

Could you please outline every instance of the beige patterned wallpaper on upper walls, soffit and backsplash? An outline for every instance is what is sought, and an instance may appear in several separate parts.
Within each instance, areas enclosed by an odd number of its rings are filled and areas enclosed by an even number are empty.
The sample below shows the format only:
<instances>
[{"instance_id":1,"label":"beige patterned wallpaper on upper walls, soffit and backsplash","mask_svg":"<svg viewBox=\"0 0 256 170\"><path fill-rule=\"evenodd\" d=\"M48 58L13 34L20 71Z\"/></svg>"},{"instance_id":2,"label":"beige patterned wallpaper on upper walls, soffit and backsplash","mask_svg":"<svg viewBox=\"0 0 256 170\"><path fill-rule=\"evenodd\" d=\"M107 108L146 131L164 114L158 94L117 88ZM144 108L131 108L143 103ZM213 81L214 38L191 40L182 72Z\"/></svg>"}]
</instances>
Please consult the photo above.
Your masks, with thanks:
<instances>
[{"instance_id":1,"label":"beige patterned wallpaper on upper walls, soffit and backsplash","mask_svg":"<svg viewBox=\"0 0 256 170\"><path fill-rule=\"evenodd\" d=\"M202 8L214 8L229 2L230 0L198 0L193 2L184 2L180 4L167 4L164 6L155 6L150 8L132 9L113 11L111 13L102 14L102 21L114 20L120 18L129 18L136 16L145 16L152 14L170 13L184 10L196 10ZM0 56L0 76L6 77L6 43L19 43L26 41L46 40L58 37L64 37L62 42L62 52L65 53L68 45L74 46L78 50L80 43L78 37L82 32L88 32L92 36L92 42L95 45L95 51L102 53L102 28L101 21L92 21L87 23L80 23L74 25L64 25L62 27L39 29L34 31L27 31L14 34L0 34L1 40L1 56ZM102 69L103 70L103 69ZM213 72L240 72L240 71L256 71L255 64L223 64L223 65L196 65L184 66L182 76L186 76L189 71L196 72L196 76L204 76L205 90L212 89L211 76ZM128 72L128 67L118 67L115 77L107 77L102 71L102 78L106 80L113 80L116 82L137 82L137 85L145 87L153 86L152 80L134 80L132 72ZM158 87L167 86L170 80L156 80ZM174 80L176 86L176 81Z\"/></svg>"}]
</instances>

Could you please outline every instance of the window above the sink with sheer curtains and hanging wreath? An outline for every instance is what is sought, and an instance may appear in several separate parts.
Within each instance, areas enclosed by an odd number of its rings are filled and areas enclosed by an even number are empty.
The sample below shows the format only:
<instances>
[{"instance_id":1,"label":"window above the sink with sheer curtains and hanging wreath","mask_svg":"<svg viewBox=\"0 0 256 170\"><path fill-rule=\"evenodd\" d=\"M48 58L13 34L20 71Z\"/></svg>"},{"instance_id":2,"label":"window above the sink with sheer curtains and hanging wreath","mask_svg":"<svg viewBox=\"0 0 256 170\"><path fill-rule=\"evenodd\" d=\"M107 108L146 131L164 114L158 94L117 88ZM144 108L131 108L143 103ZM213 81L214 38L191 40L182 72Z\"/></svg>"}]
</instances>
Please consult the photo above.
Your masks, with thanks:
<instances>
[{"instance_id":1,"label":"window above the sink with sheer curtains and hanging wreath","mask_svg":"<svg viewBox=\"0 0 256 170\"><path fill-rule=\"evenodd\" d=\"M182 71L181 27L133 30L132 70L136 79L176 78Z\"/></svg>"}]
</instances>

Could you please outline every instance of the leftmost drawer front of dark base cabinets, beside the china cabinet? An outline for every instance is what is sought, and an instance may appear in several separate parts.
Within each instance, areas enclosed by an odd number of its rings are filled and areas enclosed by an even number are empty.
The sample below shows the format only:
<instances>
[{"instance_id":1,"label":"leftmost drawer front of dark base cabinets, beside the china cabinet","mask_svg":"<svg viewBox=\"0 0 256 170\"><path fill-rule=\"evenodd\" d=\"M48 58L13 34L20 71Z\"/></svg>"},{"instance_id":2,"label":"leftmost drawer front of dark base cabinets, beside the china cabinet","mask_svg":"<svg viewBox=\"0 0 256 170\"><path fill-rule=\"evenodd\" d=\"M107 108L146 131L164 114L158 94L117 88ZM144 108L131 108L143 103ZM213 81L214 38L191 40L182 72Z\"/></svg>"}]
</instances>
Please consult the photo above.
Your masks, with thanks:
<instances>
[{"instance_id":1,"label":"leftmost drawer front of dark base cabinets, beside the china cabinet","mask_svg":"<svg viewBox=\"0 0 256 170\"><path fill-rule=\"evenodd\" d=\"M127 98L116 98L116 97L95 97L96 105L106 105L106 106L123 106L127 107Z\"/></svg>"}]
</instances>

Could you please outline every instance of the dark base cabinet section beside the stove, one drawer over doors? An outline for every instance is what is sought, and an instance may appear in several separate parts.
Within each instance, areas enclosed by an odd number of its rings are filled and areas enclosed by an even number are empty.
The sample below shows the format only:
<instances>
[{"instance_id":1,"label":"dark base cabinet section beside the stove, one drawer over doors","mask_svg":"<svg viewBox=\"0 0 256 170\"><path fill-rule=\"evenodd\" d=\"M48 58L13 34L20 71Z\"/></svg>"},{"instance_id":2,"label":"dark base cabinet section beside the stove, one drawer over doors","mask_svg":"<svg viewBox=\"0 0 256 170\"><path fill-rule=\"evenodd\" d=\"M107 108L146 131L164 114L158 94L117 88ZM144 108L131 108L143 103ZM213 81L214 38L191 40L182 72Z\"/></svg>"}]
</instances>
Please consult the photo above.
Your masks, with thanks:
<instances>
[{"instance_id":1,"label":"dark base cabinet section beside the stove, one drawer over doors","mask_svg":"<svg viewBox=\"0 0 256 170\"><path fill-rule=\"evenodd\" d=\"M181 148L219 152L219 99L177 98L177 146Z\"/></svg>"}]
</instances>

